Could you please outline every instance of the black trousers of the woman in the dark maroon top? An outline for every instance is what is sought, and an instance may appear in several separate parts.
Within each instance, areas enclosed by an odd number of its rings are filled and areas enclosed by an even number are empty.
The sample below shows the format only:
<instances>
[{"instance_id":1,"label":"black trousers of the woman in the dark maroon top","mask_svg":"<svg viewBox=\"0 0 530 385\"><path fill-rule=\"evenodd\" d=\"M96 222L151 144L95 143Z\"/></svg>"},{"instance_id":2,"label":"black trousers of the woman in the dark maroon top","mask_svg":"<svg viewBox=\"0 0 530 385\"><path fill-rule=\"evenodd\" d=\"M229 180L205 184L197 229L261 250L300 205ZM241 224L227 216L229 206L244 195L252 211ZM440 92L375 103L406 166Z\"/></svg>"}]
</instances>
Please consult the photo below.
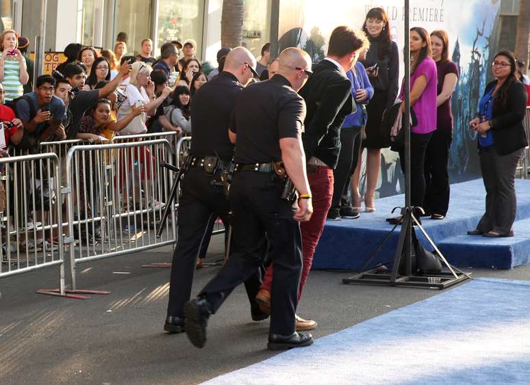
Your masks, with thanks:
<instances>
[{"instance_id":1,"label":"black trousers of the woman in the dark maroon top","mask_svg":"<svg viewBox=\"0 0 530 385\"><path fill-rule=\"evenodd\" d=\"M451 130L437 129L433 132L425 152L425 198L423 209L428 214L446 215L449 209L449 148L453 134Z\"/></svg>"}]
</instances>

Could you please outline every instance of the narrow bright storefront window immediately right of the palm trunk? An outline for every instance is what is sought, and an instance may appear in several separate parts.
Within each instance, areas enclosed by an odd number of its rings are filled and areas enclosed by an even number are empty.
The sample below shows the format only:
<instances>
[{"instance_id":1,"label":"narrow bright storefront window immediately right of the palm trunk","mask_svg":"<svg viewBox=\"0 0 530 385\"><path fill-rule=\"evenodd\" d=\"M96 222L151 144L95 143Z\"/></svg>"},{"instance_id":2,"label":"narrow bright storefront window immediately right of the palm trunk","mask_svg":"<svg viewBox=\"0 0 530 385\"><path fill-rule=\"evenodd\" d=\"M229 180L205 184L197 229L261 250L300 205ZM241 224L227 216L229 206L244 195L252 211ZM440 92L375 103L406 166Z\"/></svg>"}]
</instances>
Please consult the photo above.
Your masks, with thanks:
<instances>
[{"instance_id":1,"label":"narrow bright storefront window immediately right of the palm trunk","mask_svg":"<svg viewBox=\"0 0 530 385\"><path fill-rule=\"evenodd\" d=\"M244 2L243 45L259 58L270 36L270 0Z\"/></svg>"}]
</instances>

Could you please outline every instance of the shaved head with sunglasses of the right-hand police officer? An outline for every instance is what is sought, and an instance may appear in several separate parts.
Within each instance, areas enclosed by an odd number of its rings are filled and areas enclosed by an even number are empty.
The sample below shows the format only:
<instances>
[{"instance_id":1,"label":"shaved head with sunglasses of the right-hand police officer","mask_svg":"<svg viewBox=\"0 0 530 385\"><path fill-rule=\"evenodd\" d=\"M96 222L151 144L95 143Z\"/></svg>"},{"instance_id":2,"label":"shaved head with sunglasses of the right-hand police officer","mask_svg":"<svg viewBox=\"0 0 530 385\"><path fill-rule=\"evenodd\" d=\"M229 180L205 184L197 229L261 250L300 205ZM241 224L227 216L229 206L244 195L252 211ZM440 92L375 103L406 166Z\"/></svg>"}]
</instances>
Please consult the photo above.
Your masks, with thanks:
<instances>
[{"instance_id":1,"label":"shaved head with sunglasses of the right-hand police officer","mask_svg":"<svg viewBox=\"0 0 530 385\"><path fill-rule=\"evenodd\" d=\"M307 81L305 71L311 71L311 57L298 48L286 48L279 55L278 74L291 83L293 90L298 91Z\"/></svg>"}]
</instances>

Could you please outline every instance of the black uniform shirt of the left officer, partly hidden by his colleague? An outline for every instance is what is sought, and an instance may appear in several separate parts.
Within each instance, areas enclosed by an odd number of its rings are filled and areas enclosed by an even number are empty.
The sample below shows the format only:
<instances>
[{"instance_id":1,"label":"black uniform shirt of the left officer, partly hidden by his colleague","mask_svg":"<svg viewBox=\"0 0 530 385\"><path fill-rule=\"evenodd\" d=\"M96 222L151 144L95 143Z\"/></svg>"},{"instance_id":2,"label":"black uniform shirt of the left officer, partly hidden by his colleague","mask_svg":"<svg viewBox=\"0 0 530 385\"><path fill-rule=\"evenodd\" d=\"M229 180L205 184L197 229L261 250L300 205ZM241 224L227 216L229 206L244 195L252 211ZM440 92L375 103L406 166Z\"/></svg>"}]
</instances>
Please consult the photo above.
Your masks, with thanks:
<instances>
[{"instance_id":1,"label":"black uniform shirt of the left officer, partly hidden by his colleague","mask_svg":"<svg viewBox=\"0 0 530 385\"><path fill-rule=\"evenodd\" d=\"M191 105L192 155L218 154L225 161L232 159L234 145L228 138L228 127L230 114L242 90L238 79L225 71L197 90Z\"/></svg>"}]
</instances>

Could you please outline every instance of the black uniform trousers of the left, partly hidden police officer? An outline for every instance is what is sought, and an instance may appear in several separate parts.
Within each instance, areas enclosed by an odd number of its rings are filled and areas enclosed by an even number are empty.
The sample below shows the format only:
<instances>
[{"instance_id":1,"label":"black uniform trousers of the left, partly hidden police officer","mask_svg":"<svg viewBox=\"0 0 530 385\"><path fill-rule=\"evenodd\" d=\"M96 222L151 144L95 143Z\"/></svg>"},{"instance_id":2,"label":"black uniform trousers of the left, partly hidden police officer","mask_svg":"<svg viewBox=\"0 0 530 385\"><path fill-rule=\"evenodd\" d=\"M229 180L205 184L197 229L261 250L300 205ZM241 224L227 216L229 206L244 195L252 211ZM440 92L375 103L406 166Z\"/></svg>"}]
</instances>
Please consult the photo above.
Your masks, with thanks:
<instances>
[{"instance_id":1,"label":"black uniform trousers of the left, partly hidden police officer","mask_svg":"<svg viewBox=\"0 0 530 385\"><path fill-rule=\"evenodd\" d=\"M229 224L230 205L223 187L212 185L220 179L205 174L202 168L191 166L181 181L181 197L177 211L178 239L173 253L169 287L168 316L184 317L184 304L190 300L197 256L205 241L205 231L212 218L220 217ZM262 284L262 268L258 265L245 281L251 311L259 312L255 296Z\"/></svg>"}]
</instances>

